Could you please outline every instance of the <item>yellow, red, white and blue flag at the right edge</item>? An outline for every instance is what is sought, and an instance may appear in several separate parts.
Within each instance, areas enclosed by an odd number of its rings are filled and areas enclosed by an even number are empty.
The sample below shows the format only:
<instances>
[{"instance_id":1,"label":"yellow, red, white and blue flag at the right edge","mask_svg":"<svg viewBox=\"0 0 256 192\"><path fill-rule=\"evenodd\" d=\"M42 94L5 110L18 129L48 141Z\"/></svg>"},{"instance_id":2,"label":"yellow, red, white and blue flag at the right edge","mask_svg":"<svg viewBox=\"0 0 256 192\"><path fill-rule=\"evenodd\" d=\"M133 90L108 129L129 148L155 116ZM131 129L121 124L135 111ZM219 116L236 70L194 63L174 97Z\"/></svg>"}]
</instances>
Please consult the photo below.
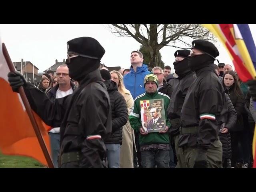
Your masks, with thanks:
<instances>
[{"instance_id":1,"label":"yellow, red, white and blue flag at the right edge","mask_svg":"<svg viewBox=\"0 0 256 192\"><path fill-rule=\"evenodd\" d=\"M256 46L248 24L202 24L202 26L208 28L226 47L243 82L256 79ZM253 168L256 168L256 127L252 153Z\"/></svg>"}]
</instances>

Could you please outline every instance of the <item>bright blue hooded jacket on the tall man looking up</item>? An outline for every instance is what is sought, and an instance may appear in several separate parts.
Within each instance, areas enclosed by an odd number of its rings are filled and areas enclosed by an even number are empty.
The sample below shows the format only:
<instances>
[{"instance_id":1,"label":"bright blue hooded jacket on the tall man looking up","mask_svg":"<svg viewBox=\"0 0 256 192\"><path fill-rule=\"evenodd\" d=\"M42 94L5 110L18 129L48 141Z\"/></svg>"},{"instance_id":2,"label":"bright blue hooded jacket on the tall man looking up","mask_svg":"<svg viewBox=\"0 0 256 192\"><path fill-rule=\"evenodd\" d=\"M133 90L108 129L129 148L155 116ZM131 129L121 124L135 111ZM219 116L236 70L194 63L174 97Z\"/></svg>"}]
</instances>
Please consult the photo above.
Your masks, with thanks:
<instances>
[{"instance_id":1,"label":"bright blue hooded jacket on the tall man looking up","mask_svg":"<svg viewBox=\"0 0 256 192\"><path fill-rule=\"evenodd\" d=\"M144 78L149 73L148 66L143 64L137 67L136 72L131 66L130 73L124 76L124 86L131 92L133 99L145 92Z\"/></svg>"}]
</instances>

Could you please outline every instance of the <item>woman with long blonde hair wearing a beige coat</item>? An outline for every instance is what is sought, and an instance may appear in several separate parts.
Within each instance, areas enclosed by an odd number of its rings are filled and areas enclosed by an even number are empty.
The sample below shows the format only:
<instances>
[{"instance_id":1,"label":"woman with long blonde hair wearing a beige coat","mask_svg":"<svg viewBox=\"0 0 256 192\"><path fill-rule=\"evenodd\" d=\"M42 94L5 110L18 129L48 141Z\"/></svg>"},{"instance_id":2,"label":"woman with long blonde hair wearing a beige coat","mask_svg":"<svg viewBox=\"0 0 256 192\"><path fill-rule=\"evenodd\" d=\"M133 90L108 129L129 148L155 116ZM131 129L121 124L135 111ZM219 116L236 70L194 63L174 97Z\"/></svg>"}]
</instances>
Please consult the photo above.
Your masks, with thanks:
<instances>
[{"instance_id":1,"label":"woman with long blonde hair wearing a beige coat","mask_svg":"<svg viewBox=\"0 0 256 192\"><path fill-rule=\"evenodd\" d=\"M111 80L116 82L118 86L118 92L124 96L126 105L128 108L128 117L132 109L134 100L129 90L124 87L123 76L118 71L111 71ZM132 129L129 119L123 126L123 138L120 149L120 168L133 168L133 148L135 146L134 130Z\"/></svg>"}]
</instances>

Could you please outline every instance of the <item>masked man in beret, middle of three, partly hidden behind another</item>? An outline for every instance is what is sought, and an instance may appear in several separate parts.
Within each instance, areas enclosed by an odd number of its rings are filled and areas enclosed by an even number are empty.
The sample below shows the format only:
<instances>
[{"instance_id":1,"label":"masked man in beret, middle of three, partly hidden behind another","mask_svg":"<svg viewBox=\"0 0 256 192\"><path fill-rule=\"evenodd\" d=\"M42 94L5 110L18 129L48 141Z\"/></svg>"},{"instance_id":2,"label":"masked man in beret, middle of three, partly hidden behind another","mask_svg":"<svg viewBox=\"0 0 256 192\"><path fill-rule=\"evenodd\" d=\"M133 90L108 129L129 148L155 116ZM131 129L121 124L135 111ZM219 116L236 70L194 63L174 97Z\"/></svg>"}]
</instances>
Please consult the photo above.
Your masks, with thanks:
<instances>
[{"instance_id":1,"label":"masked man in beret, middle of three, partly hidden behind another","mask_svg":"<svg viewBox=\"0 0 256 192\"><path fill-rule=\"evenodd\" d=\"M180 83L174 88L170 104L168 106L168 116L172 126L169 129L170 136L175 143L175 153L177 157L176 168L186 168L185 157L182 148L178 147L178 138L180 136L180 116L181 108L184 103L188 88L196 78L194 72L188 66L188 55L190 50L177 50L174 53L175 61L173 63L175 73L179 76Z\"/></svg>"}]
</instances>

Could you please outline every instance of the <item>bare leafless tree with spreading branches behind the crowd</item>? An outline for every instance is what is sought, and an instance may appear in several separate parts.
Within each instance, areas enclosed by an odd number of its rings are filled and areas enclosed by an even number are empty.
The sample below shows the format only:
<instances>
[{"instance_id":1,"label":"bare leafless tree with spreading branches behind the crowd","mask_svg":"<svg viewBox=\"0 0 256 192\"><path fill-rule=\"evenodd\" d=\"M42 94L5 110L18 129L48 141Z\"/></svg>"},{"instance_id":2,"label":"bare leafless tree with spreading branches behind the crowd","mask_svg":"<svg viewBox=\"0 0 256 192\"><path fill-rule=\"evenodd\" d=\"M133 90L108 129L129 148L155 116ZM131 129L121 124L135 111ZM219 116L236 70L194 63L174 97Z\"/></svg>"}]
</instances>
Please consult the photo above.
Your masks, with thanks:
<instances>
[{"instance_id":1,"label":"bare leafless tree with spreading branches behind the crowd","mask_svg":"<svg viewBox=\"0 0 256 192\"><path fill-rule=\"evenodd\" d=\"M110 24L109 30L120 37L133 37L150 52L149 67L160 66L159 50L164 46L188 48L187 39L215 40L200 24ZM181 46L175 46L182 42Z\"/></svg>"}]
</instances>

